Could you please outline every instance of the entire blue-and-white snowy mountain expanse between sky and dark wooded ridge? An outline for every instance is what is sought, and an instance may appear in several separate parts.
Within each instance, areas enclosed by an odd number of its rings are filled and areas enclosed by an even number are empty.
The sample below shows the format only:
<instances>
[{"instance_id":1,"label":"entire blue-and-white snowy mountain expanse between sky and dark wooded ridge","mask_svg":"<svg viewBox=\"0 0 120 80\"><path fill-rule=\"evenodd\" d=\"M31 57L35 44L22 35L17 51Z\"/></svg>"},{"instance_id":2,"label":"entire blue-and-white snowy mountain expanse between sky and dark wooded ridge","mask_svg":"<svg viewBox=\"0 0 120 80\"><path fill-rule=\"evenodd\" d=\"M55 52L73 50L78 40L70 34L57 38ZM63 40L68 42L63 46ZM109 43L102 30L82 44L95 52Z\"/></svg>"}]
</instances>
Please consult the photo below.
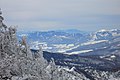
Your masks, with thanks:
<instances>
[{"instance_id":1,"label":"entire blue-and-white snowy mountain expanse between sky and dark wooded ridge","mask_svg":"<svg viewBox=\"0 0 120 80\"><path fill-rule=\"evenodd\" d=\"M79 54L104 49L109 42L120 37L119 29L83 32L79 30L33 31L18 33L18 38L27 36L31 48L42 46L44 51Z\"/></svg>"}]
</instances>

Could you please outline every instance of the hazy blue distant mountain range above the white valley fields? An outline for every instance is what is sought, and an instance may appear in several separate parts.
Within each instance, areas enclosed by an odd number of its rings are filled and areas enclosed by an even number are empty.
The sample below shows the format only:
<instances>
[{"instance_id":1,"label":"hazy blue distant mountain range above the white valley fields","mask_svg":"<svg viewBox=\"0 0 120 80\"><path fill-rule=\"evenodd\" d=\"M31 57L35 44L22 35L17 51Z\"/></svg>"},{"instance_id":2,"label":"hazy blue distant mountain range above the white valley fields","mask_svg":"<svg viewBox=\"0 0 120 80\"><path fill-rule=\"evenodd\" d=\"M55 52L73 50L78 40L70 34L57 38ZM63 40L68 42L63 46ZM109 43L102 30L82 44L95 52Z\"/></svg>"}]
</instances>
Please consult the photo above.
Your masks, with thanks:
<instances>
[{"instance_id":1,"label":"hazy blue distant mountain range above the white valley fields","mask_svg":"<svg viewBox=\"0 0 120 80\"><path fill-rule=\"evenodd\" d=\"M40 41L50 44L70 44L76 42L84 42L87 39L87 34L83 32L65 32L65 31L33 31L19 32L18 37L27 36L31 41Z\"/></svg>"}]
</instances>

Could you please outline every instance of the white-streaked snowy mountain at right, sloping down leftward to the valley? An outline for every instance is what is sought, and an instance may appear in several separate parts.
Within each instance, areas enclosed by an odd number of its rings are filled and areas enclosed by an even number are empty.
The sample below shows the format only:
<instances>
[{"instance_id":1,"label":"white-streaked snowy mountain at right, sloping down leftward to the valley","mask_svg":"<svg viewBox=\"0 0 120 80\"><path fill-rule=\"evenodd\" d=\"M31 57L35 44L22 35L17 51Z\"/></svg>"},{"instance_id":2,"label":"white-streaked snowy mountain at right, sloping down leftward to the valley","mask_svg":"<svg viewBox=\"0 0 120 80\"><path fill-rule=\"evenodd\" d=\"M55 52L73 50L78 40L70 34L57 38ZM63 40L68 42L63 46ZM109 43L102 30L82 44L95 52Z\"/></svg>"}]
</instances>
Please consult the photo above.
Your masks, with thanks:
<instances>
[{"instance_id":1,"label":"white-streaked snowy mountain at right, sloping down leftward to the valley","mask_svg":"<svg viewBox=\"0 0 120 80\"><path fill-rule=\"evenodd\" d=\"M84 54L84 53L94 53L99 54L94 51L99 51L107 49L113 43L120 38L120 30L112 29L112 30L100 30L91 35L91 39L87 42L80 43L72 48L64 49L61 52L69 55L74 54ZM117 42L119 44L119 42ZM107 52L107 51L106 51ZM102 54L102 53L101 53ZM105 52L103 52L105 54Z\"/></svg>"}]
</instances>

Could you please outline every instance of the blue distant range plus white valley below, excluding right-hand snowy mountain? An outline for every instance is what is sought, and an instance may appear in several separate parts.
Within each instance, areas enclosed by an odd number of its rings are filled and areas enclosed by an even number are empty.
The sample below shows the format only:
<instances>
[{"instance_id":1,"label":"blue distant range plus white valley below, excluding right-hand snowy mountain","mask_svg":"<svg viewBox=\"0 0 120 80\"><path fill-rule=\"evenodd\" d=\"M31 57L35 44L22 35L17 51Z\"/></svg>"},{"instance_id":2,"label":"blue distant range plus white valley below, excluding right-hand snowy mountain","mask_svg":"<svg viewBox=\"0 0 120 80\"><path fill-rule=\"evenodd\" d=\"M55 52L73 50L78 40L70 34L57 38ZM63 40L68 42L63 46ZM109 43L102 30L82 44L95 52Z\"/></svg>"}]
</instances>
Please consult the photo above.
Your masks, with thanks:
<instances>
[{"instance_id":1,"label":"blue distant range plus white valley below, excluding right-hand snowy mountain","mask_svg":"<svg viewBox=\"0 0 120 80\"><path fill-rule=\"evenodd\" d=\"M43 50L51 52L69 49L89 40L89 34L79 30L19 32L18 38L20 39L22 36L28 38L31 48L41 45Z\"/></svg>"}]
</instances>

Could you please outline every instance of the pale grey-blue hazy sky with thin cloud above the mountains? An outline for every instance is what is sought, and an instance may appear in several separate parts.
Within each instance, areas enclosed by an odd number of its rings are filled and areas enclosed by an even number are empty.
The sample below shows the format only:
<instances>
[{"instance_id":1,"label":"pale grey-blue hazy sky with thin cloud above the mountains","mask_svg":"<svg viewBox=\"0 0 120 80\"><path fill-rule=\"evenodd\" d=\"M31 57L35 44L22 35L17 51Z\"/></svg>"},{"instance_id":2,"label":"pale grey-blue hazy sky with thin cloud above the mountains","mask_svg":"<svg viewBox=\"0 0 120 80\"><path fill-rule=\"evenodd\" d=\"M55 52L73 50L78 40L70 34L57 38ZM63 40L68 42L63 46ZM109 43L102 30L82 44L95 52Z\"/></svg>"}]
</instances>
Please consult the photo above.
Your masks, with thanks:
<instances>
[{"instance_id":1,"label":"pale grey-blue hazy sky with thin cloud above the mountains","mask_svg":"<svg viewBox=\"0 0 120 80\"><path fill-rule=\"evenodd\" d=\"M120 29L120 0L0 0L0 8L20 30Z\"/></svg>"}]
</instances>

